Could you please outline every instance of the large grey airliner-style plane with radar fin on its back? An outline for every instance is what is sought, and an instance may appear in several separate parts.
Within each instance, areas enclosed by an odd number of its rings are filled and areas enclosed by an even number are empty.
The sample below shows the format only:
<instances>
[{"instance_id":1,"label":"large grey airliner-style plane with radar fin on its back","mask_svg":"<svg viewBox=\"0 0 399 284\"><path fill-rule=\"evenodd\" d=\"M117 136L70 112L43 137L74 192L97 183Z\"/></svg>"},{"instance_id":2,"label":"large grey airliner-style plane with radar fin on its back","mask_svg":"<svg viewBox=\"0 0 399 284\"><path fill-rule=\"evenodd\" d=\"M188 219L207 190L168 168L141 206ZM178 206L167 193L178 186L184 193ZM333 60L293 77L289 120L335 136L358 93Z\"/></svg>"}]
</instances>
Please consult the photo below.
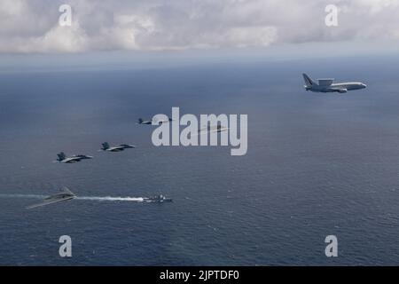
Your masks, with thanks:
<instances>
[{"instance_id":1,"label":"large grey airliner-style plane with radar fin on its back","mask_svg":"<svg viewBox=\"0 0 399 284\"><path fill-rule=\"evenodd\" d=\"M351 82L351 83L333 83L334 79L318 79L318 83L315 83L308 75L302 74L305 80L305 85L303 86L306 91L315 92L339 92L345 93L352 90L360 90L367 87L364 83Z\"/></svg>"}]
</instances>

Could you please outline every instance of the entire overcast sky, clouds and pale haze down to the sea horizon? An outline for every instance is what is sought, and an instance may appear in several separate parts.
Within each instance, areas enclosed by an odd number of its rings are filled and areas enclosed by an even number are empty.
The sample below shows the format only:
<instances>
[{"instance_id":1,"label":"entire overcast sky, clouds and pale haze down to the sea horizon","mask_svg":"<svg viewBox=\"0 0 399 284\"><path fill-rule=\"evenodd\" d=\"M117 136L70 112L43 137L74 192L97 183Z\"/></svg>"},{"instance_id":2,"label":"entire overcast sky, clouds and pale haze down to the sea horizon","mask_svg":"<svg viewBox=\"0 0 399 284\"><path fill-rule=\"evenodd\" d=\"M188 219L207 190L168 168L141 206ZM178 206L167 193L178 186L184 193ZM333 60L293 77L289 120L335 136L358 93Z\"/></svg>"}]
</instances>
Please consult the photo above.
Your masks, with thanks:
<instances>
[{"instance_id":1,"label":"entire overcast sky, clouds and pale haze down to the sea horizon","mask_svg":"<svg viewBox=\"0 0 399 284\"><path fill-rule=\"evenodd\" d=\"M70 27L59 25L61 4L72 7ZM339 9L338 27L325 25L328 4ZM0 0L4 69L159 62L159 54L286 59L397 53L398 47L399 0Z\"/></svg>"}]
</instances>

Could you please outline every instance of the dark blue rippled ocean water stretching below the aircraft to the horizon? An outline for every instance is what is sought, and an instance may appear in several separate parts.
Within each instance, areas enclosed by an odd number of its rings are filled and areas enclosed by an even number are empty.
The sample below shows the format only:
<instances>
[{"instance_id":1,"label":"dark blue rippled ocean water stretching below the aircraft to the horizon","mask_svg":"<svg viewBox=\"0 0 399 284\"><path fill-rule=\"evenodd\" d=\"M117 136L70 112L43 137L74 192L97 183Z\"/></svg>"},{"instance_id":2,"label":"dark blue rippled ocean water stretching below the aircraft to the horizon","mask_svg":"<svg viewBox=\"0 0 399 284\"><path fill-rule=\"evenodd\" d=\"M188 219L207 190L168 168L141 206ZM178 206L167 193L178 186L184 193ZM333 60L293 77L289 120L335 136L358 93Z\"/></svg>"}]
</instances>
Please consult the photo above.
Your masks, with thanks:
<instances>
[{"instance_id":1,"label":"dark blue rippled ocean water stretching below the aircraft to the horizon","mask_svg":"<svg viewBox=\"0 0 399 284\"><path fill-rule=\"evenodd\" d=\"M399 59L0 75L0 264L399 264ZM345 95L301 73L362 81ZM138 117L248 114L248 152L155 147ZM98 153L100 143L132 143ZM53 163L60 151L91 161ZM8 194L147 197L39 209ZM70 235L73 257L59 257ZM325 236L339 256L325 256Z\"/></svg>"}]
</instances>

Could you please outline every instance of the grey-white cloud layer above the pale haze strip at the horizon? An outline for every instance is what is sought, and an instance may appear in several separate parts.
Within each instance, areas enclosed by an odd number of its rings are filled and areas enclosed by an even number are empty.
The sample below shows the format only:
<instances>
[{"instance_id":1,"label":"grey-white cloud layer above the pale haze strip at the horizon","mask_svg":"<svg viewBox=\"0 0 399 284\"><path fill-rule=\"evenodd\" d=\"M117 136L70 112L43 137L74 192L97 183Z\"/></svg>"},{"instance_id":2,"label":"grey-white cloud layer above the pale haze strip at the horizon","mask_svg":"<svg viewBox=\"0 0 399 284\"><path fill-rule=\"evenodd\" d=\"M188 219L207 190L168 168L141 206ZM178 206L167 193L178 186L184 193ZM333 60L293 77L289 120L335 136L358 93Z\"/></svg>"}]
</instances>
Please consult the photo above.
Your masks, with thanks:
<instances>
[{"instance_id":1,"label":"grey-white cloud layer above the pale haze strip at the horizon","mask_svg":"<svg viewBox=\"0 0 399 284\"><path fill-rule=\"evenodd\" d=\"M59 6L73 9L59 26ZM325 6L339 26L325 27ZM0 0L0 52L187 50L399 39L399 0Z\"/></svg>"}]
</instances>

